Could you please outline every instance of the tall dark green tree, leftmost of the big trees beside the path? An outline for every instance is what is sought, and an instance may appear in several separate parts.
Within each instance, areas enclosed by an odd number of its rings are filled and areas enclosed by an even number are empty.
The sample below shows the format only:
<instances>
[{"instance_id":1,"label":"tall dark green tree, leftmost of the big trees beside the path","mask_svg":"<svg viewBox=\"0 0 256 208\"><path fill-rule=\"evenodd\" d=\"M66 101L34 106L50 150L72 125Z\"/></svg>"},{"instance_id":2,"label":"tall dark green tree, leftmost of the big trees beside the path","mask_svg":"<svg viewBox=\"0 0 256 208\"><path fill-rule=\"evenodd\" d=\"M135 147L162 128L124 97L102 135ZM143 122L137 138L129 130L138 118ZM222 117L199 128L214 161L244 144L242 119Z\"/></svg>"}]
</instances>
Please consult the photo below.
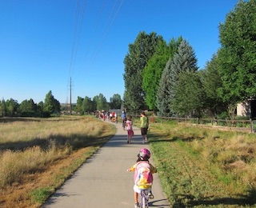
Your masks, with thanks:
<instances>
[{"instance_id":1,"label":"tall dark green tree, leftmost of the big trees beside the path","mask_svg":"<svg viewBox=\"0 0 256 208\"><path fill-rule=\"evenodd\" d=\"M123 102L124 107L131 112L146 108L145 92L142 90L142 71L160 41L162 42L162 36L158 36L154 32L150 34L140 32L134 44L129 45L129 53L124 59L125 93Z\"/></svg>"}]
</instances>

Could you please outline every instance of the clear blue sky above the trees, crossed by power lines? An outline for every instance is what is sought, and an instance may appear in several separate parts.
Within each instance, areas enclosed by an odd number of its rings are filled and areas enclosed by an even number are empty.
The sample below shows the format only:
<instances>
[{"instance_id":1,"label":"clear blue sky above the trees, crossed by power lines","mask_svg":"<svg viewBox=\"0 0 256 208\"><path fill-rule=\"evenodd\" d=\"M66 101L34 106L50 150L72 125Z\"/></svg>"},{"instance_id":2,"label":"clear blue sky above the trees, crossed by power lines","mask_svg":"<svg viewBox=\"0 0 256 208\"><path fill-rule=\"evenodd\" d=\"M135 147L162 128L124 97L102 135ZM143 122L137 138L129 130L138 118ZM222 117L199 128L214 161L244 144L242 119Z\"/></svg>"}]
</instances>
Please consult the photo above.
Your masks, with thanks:
<instances>
[{"instance_id":1,"label":"clear blue sky above the trees, crossed by power lines","mask_svg":"<svg viewBox=\"0 0 256 208\"><path fill-rule=\"evenodd\" d=\"M139 32L183 38L202 69L238 0L1 0L0 98L59 102L123 96L123 60Z\"/></svg>"}]
</instances>

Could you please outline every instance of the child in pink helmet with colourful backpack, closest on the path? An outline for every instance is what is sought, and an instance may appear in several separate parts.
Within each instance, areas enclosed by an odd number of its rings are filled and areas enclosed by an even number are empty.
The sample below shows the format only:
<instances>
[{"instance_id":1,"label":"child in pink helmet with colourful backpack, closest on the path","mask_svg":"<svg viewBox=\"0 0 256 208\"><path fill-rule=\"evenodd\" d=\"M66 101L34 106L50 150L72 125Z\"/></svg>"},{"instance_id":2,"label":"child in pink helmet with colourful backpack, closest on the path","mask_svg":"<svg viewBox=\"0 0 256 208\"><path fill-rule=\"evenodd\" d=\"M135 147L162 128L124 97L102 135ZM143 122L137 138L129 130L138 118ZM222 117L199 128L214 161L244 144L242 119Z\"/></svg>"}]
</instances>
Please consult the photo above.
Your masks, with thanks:
<instances>
[{"instance_id":1,"label":"child in pink helmet with colourful backpack, closest on the path","mask_svg":"<svg viewBox=\"0 0 256 208\"><path fill-rule=\"evenodd\" d=\"M134 166L131 166L127 171L134 171L134 202L135 208L139 207L138 194L141 190L149 190L149 197L154 198L151 192L151 186L153 182L153 175L157 172L157 169L149 162L150 150L142 148L138 154L138 160Z\"/></svg>"}]
</instances>

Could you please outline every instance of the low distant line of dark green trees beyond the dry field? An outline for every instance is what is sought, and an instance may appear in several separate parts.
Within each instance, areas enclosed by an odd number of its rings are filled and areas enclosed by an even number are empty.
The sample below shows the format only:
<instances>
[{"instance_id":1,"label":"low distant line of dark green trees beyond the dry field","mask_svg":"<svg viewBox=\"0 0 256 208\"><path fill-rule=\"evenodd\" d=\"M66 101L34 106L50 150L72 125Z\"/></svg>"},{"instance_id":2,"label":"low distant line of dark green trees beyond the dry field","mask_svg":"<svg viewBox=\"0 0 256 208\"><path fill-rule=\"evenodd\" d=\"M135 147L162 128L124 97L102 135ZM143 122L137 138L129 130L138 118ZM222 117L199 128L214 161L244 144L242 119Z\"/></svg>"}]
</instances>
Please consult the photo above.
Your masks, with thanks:
<instances>
[{"instance_id":1,"label":"low distant line of dark green trees beyond the dry field","mask_svg":"<svg viewBox=\"0 0 256 208\"><path fill-rule=\"evenodd\" d=\"M96 110L120 109L122 106L122 98L120 94L114 94L110 98L110 102L106 101L103 94L91 98L78 97L76 105L72 105L72 109L79 114L88 114ZM68 111L66 106L61 106L60 102L54 98L51 91L46 94L44 102L35 103L33 99L24 100L20 104L10 98L9 100L0 101L0 116L33 116L33 117L49 117L51 114L60 114L61 111Z\"/></svg>"}]
</instances>

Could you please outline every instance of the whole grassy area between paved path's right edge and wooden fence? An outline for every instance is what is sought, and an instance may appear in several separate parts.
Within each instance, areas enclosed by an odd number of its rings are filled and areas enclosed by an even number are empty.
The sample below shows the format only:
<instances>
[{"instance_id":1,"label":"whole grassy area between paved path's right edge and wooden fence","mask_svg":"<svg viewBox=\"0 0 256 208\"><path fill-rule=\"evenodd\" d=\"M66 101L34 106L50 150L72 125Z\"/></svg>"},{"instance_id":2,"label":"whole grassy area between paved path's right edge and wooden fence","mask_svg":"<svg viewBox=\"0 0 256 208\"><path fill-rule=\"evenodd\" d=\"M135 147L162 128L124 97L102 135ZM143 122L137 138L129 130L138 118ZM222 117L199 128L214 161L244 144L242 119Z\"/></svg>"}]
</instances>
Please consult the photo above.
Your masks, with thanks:
<instances>
[{"instance_id":1,"label":"whole grassy area between paved path's right edge and wooden fence","mask_svg":"<svg viewBox=\"0 0 256 208\"><path fill-rule=\"evenodd\" d=\"M171 207L256 207L255 135L158 122L149 138Z\"/></svg>"}]
</instances>

